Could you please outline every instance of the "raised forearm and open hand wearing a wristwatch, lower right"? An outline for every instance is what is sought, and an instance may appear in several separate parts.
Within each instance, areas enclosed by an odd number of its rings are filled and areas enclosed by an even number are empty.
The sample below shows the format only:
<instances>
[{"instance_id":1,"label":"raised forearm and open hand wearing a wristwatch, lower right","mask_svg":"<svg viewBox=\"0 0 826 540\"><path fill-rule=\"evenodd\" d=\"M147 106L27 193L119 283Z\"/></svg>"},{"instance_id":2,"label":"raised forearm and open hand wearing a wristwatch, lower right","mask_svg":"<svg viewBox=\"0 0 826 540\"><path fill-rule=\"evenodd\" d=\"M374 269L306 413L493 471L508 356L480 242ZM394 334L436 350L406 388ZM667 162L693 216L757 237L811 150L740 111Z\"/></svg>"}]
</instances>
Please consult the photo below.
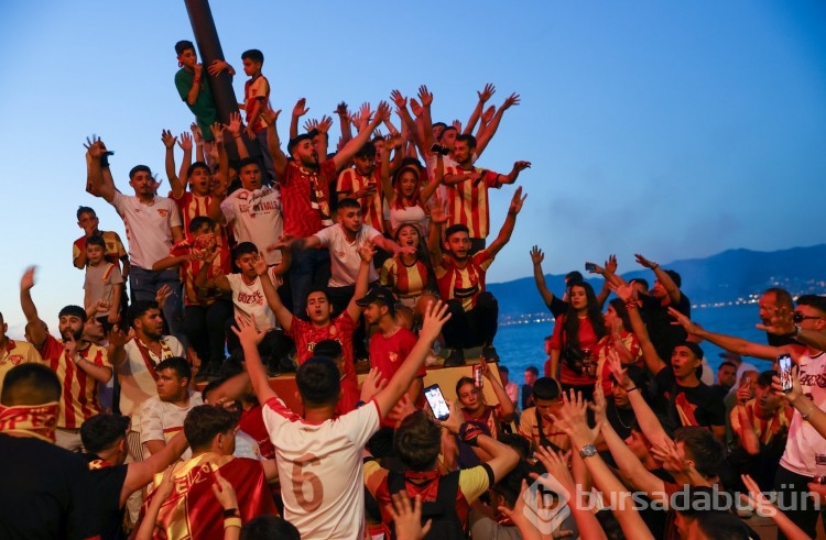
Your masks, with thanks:
<instances>
[{"instance_id":1,"label":"raised forearm and open hand wearing a wristwatch, lower right","mask_svg":"<svg viewBox=\"0 0 826 540\"><path fill-rule=\"evenodd\" d=\"M627 538L633 536L638 540L653 540L651 530L637 511L631 493L613 475L594 444L602 425L607 423L605 415L597 420L595 428L589 428L586 415L588 405L582 399L582 395L575 395L573 392L570 396L563 394L563 400L564 405L558 416L554 416L554 425L568 434L574 449L579 449L579 455L588 467L597 489L611 500L613 507L611 511L622 528L622 532Z\"/></svg>"}]
</instances>

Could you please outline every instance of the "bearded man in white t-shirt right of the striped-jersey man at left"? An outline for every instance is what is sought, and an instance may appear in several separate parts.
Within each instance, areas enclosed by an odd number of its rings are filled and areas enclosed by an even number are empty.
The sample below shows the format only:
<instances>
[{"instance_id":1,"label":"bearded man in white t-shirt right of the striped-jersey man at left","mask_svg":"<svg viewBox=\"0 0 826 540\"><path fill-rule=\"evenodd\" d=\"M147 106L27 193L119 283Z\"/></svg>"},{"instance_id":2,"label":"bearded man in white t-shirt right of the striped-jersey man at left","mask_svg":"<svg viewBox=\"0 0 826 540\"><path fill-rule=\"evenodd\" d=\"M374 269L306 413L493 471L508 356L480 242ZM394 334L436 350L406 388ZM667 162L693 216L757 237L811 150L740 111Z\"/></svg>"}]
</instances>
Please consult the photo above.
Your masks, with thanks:
<instances>
[{"instance_id":1,"label":"bearded man in white t-shirt right of the striped-jersey man at left","mask_svg":"<svg viewBox=\"0 0 826 540\"><path fill-rule=\"evenodd\" d=\"M129 307L129 324L134 337L112 353L112 363L120 377L120 414L132 417L129 452L132 459L143 455L140 445L140 408L150 397L157 396L157 364L173 356L183 356L184 348L172 335L163 334L163 318L155 301L137 301Z\"/></svg>"}]
</instances>

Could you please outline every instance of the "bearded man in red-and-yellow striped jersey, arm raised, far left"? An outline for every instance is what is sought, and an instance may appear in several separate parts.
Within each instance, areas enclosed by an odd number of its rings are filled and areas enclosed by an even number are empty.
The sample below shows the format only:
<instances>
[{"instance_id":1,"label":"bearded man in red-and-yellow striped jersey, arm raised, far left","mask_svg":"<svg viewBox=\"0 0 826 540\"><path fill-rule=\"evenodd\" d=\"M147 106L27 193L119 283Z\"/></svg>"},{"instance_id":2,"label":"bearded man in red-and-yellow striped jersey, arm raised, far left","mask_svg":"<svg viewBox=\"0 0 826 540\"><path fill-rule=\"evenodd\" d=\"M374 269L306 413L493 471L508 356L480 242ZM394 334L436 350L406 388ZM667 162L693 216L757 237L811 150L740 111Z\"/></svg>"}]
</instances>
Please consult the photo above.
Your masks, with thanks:
<instances>
[{"instance_id":1,"label":"bearded man in red-and-yellow striped jersey, arm raised, far left","mask_svg":"<svg viewBox=\"0 0 826 540\"><path fill-rule=\"evenodd\" d=\"M67 450L77 450L80 447L80 425L102 412L98 399L99 385L112 378L112 366L106 349L84 339L84 308L66 306L61 310L57 328L63 341L57 341L37 316L32 287L34 266L30 266L20 280L20 306L32 344L44 363L55 372L63 387L55 442Z\"/></svg>"}]
</instances>

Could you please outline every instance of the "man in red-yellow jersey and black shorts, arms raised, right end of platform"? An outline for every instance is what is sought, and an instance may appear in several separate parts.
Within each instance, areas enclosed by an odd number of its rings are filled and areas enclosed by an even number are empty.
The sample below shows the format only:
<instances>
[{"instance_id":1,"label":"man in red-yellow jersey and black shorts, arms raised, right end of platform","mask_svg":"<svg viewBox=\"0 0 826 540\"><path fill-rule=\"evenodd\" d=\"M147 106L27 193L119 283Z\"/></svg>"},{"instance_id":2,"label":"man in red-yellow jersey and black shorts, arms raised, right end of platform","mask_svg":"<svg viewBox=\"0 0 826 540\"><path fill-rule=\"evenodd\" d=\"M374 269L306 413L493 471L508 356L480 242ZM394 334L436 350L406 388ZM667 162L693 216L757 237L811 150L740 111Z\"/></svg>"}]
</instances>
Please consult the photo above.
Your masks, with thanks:
<instances>
[{"instance_id":1,"label":"man in red-yellow jersey and black shorts, arms raised, right end of platform","mask_svg":"<svg viewBox=\"0 0 826 540\"><path fill-rule=\"evenodd\" d=\"M528 195L525 195L528 197ZM499 230L499 235L490 247L470 255L470 234L467 225L457 223L445 231L442 252L442 223L446 221L443 209L434 208L431 219L428 239L436 284L442 299L450 310L450 320L445 323L442 335L445 344L452 349L445 360L445 366L465 364L464 349L482 345L482 356L490 362L499 360L493 349L493 337L497 333L499 305L493 295L485 290L485 274L497 253L511 239L517 224L517 216L525 200L522 188L513 194L508 208L508 217Z\"/></svg>"}]
</instances>

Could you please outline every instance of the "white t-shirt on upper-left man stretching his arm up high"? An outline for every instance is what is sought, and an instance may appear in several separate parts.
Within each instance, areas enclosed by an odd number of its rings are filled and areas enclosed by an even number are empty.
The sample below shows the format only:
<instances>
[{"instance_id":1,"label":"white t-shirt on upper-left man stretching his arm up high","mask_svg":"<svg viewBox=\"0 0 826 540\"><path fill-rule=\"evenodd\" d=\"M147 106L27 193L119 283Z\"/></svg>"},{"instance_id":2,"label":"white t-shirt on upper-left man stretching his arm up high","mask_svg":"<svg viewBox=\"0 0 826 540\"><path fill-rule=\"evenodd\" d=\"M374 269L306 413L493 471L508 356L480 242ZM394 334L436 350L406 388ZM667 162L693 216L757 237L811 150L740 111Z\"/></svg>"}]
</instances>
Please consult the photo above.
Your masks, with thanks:
<instances>
[{"instance_id":1,"label":"white t-shirt on upper-left man stretching his arm up high","mask_svg":"<svg viewBox=\"0 0 826 540\"><path fill-rule=\"evenodd\" d=\"M166 197L155 197L150 205L135 196L115 191L112 206L123 219L129 240L129 262L146 271L170 254L172 228L183 227L177 205Z\"/></svg>"}]
</instances>

